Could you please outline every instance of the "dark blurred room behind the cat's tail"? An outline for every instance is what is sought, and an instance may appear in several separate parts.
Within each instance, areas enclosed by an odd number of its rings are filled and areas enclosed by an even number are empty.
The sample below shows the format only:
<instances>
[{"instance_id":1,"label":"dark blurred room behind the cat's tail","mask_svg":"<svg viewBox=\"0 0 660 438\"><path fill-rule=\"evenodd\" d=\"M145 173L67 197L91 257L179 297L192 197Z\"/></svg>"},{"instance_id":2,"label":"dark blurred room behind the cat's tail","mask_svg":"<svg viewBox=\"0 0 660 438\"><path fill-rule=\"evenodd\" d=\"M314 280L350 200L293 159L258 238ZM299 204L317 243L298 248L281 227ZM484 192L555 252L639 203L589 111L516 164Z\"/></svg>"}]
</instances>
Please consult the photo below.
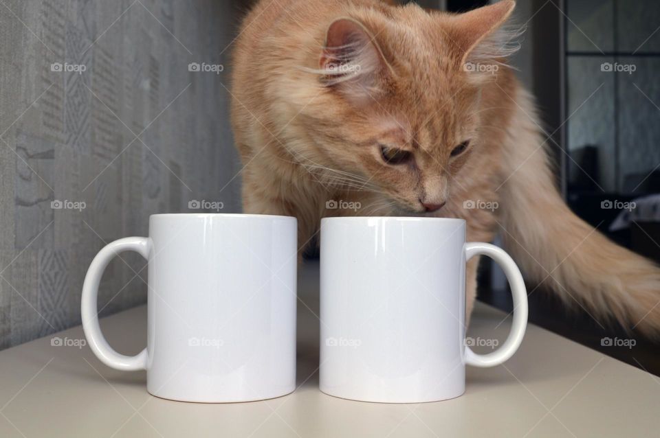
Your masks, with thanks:
<instances>
[{"instance_id":1,"label":"dark blurred room behind the cat's tail","mask_svg":"<svg viewBox=\"0 0 660 438\"><path fill-rule=\"evenodd\" d=\"M489 1L418 3L461 12ZM518 1L514 23L527 30L511 65L537 98L566 203L611 240L660 262L660 2ZM511 310L503 274L482 265L479 299ZM533 323L660 375L657 343L602 325L576 301L566 308L546 284L528 290Z\"/></svg>"}]
</instances>

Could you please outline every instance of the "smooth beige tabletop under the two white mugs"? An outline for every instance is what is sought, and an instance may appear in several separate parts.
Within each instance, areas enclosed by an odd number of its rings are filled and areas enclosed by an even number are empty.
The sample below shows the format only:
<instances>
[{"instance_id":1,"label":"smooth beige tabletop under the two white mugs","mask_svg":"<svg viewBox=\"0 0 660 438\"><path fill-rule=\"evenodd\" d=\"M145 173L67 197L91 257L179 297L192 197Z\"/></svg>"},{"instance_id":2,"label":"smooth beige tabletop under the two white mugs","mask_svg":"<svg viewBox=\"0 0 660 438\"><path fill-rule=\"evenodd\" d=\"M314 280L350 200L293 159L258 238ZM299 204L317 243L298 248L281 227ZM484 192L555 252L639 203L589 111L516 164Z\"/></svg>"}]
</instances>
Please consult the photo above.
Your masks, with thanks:
<instances>
[{"instance_id":1,"label":"smooth beige tabletop under the two white mugs","mask_svg":"<svg viewBox=\"0 0 660 438\"><path fill-rule=\"evenodd\" d=\"M102 365L81 327L0 351L0 437L658 437L660 379L535 325L505 365L468 368L465 395L373 404L318 391L318 279L298 294L298 389L263 402L195 404L146 392L144 371ZM504 321L502 323L502 321ZM135 354L146 307L101 320ZM503 341L505 314L476 307L469 336ZM489 347L476 348L485 352Z\"/></svg>"}]
</instances>

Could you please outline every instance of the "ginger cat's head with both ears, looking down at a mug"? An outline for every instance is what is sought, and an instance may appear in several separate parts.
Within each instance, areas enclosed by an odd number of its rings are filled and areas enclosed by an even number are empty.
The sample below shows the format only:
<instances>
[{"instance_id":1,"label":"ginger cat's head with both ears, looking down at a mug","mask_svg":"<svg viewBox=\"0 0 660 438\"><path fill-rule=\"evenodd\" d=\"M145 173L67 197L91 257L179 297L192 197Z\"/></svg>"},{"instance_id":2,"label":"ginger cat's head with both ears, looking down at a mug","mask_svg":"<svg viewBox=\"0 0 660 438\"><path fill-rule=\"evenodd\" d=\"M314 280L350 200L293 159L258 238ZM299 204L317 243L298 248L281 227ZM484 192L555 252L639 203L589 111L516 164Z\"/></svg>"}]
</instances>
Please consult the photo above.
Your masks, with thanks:
<instances>
[{"instance_id":1,"label":"ginger cat's head with both ears, looking down at a mug","mask_svg":"<svg viewBox=\"0 0 660 438\"><path fill-rule=\"evenodd\" d=\"M309 139L300 157L399 211L441 208L483 142L481 91L511 53L501 26L514 5L385 7L324 25L325 45L311 55L318 93L300 110Z\"/></svg>"}]
</instances>

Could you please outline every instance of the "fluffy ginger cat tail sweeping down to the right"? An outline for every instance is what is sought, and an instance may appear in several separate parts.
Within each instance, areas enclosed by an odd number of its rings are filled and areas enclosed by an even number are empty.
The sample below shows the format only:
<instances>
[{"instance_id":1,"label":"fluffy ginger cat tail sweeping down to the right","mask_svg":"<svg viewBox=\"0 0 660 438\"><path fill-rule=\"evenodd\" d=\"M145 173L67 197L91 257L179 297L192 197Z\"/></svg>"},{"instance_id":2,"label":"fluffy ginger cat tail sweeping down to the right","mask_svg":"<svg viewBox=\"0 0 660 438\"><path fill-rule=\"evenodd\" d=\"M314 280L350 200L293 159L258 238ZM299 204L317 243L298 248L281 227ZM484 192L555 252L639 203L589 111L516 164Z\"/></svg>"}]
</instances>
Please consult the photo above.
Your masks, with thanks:
<instances>
[{"instance_id":1,"label":"fluffy ginger cat tail sweeping down to the right","mask_svg":"<svg viewBox=\"0 0 660 438\"><path fill-rule=\"evenodd\" d=\"M505 147L507 179L498 189L507 250L530 280L550 286L599 325L618 321L629 332L660 337L659 266L611 242L566 206L531 96L518 90Z\"/></svg>"}]
</instances>

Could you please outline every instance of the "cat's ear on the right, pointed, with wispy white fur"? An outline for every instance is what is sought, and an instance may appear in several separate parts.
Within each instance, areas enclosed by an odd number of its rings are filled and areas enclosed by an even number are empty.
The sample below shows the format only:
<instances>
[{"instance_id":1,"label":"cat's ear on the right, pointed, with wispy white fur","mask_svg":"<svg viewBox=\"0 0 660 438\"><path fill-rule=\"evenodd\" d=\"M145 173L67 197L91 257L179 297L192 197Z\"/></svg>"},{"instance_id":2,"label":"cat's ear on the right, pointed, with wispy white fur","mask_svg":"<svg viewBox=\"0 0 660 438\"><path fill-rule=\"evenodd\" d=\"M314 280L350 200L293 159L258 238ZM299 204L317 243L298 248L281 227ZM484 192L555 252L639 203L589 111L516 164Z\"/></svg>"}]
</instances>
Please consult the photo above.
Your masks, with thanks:
<instances>
[{"instance_id":1,"label":"cat's ear on the right, pointed, with wispy white fur","mask_svg":"<svg viewBox=\"0 0 660 438\"><path fill-rule=\"evenodd\" d=\"M501 27L515 7L515 1L503 0L452 17L450 37L459 49L463 67L470 62L497 63L497 58L505 58L518 49L511 41L520 30L511 32Z\"/></svg>"}]
</instances>

